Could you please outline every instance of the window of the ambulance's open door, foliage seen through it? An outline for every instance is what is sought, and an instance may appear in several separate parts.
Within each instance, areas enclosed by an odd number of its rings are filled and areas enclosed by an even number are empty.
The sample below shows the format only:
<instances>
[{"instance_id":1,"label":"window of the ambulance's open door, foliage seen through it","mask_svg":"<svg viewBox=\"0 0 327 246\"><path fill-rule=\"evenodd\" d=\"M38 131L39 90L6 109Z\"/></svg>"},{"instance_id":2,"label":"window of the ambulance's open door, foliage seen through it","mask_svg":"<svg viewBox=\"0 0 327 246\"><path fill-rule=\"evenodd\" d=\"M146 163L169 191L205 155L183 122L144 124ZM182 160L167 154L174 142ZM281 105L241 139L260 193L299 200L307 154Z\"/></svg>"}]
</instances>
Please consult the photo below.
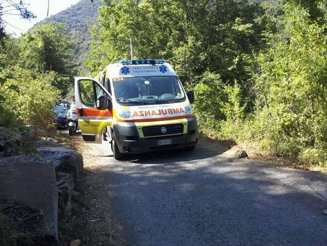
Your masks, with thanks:
<instances>
[{"instance_id":1,"label":"window of the ambulance's open door, foliage seen through it","mask_svg":"<svg viewBox=\"0 0 327 246\"><path fill-rule=\"evenodd\" d=\"M82 103L89 108L96 108L99 95L106 95L104 90L93 80L79 81Z\"/></svg>"}]
</instances>

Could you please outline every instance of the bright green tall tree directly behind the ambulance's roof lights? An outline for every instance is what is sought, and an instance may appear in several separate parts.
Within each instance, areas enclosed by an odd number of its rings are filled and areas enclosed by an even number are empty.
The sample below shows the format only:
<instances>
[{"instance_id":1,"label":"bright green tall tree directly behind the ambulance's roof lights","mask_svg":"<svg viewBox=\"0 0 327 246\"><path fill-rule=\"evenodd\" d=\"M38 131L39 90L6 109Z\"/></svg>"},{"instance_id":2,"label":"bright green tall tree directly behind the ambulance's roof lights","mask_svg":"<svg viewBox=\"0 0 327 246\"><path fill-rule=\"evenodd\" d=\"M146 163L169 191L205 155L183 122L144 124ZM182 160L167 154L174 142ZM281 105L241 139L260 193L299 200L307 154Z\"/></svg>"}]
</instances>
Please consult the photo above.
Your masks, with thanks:
<instances>
[{"instance_id":1,"label":"bright green tall tree directly behind the ambulance's roof lights","mask_svg":"<svg viewBox=\"0 0 327 246\"><path fill-rule=\"evenodd\" d=\"M109 62L130 57L130 36L135 47L134 58L161 58L172 35L172 27L179 25L177 3L174 1L105 0L99 8L99 27L92 30L95 38L91 71ZM166 18L169 16L169 18ZM163 18L164 17L164 18ZM171 54L171 52L170 52ZM168 57L166 57L168 58Z\"/></svg>"}]
</instances>

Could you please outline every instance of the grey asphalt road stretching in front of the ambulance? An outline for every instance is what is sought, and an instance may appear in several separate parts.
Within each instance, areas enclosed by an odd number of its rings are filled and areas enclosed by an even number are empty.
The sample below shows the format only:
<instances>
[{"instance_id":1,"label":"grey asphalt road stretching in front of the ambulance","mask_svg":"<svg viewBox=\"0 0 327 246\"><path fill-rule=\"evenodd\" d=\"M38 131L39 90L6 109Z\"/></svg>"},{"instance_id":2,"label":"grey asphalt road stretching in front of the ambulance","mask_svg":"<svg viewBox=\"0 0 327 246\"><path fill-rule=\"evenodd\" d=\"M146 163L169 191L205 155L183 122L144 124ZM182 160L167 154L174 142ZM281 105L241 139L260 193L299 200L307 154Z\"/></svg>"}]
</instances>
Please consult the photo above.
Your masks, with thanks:
<instances>
[{"instance_id":1,"label":"grey asphalt road stretching in front of the ambulance","mask_svg":"<svg viewBox=\"0 0 327 246\"><path fill-rule=\"evenodd\" d=\"M97 202L110 203L131 246L327 246L327 176L231 160L201 139L193 152L116 161L97 145ZM89 158L89 160L90 160Z\"/></svg>"}]
</instances>

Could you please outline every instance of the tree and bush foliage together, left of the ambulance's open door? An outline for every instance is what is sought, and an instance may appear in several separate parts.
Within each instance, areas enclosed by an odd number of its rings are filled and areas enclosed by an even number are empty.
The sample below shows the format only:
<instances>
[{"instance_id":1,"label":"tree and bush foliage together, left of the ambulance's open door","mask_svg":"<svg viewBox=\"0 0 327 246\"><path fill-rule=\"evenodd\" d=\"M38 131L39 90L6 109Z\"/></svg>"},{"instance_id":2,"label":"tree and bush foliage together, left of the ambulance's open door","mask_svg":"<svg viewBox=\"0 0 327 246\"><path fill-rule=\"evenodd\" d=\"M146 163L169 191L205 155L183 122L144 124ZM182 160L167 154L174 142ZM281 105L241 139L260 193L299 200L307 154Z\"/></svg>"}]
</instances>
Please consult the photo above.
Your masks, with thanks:
<instances>
[{"instance_id":1,"label":"tree and bush foliage together, left of the ambulance's open door","mask_svg":"<svg viewBox=\"0 0 327 246\"><path fill-rule=\"evenodd\" d=\"M54 130L53 107L72 86L74 44L60 23L7 36L0 48L0 126Z\"/></svg>"}]
</instances>

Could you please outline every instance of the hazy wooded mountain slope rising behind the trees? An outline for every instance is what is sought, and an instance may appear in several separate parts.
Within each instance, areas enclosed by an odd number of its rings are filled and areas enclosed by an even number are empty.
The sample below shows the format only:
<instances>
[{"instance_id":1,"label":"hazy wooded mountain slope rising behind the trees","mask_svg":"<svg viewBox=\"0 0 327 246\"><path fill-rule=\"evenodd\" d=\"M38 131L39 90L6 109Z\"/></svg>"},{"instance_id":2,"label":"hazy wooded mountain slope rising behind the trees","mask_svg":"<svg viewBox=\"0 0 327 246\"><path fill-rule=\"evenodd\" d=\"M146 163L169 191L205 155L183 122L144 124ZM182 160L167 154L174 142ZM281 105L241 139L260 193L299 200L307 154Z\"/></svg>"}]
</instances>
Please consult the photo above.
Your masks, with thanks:
<instances>
[{"instance_id":1,"label":"hazy wooded mountain slope rising behind the trees","mask_svg":"<svg viewBox=\"0 0 327 246\"><path fill-rule=\"evenodd\" d=\"M53 21L65 23L68 33L76 43L75 54L80 68L90 52L92 39L90 29L97 23L98 8L102 4L101 0L93 0L93 2L94 4L91 0L81 0L36 24L41 25Z\"/></svg>"}]
</instances>

